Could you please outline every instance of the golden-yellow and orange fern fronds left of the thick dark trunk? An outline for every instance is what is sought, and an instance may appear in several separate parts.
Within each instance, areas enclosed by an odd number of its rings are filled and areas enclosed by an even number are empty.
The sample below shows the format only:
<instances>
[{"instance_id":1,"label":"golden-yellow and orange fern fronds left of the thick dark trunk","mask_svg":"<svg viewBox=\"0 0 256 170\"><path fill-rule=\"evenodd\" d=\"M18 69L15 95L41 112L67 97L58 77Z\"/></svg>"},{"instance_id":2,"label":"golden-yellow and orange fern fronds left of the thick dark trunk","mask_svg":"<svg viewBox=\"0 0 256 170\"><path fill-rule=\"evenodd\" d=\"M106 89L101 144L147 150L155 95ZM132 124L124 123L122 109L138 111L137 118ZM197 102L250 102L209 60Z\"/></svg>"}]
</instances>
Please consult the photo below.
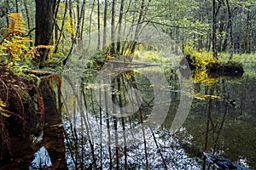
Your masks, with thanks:
<instances>
[{"instance_id":1,"label":"golden-yellow and orange fern fronds left of the thick dark trunk","mask_svg":"<svg viewBox=\"0 0 256 170\"><path fill-rule=\"evenodd\" d=\"M26 37L25 20L22 14L9 14L12 20L7 28L3 28L3 38L0 40L0 60L5 57L9 63L16 64L16 62L23 63L28 57L37 59L40 57L39 50L42 48L49 49L48 58L50 58L50 50L53 46L38 45L30 47L33 42L30 38Z\"/></svg>"}]
</instances>

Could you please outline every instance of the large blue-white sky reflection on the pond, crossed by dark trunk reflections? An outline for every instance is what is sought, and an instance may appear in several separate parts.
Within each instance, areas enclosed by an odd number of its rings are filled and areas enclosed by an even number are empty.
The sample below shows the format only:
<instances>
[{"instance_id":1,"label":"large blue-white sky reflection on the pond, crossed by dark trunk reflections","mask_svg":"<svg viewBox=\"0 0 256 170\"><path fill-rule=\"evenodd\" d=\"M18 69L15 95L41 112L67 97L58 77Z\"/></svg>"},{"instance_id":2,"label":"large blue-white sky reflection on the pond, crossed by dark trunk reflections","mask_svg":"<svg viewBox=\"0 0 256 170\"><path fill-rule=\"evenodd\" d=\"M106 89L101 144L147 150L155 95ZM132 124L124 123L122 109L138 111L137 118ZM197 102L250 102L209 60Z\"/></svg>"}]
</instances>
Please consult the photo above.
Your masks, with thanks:
<instances>
[{"instance_id":1,"label":"large blue-white sky reflection on the pond, crossed by dark trunk reflections","mask_svg":"<svg viewBox=\"0 0 256 170\"><path fill-rule=\"evenodd\" d=\"M67 165L68 169L73 170L76 166L91 168L93 164L91 156L91 145L87 139L84 140L84 136L88 136L85 130L84 124L82 125L79 121L80 116L77 116L77 122L74 125L76 128L76 135L73 135L72 128L68 122L64 122L64 128L66 128L69 136L65 140L67 152ZM108 133L101 132L97 130L100 127L100 122L98 120L88 115L91 128L90 137L93 139L94 143L94 156L99 158L96 159L96 164L100 165L102 160L102 169L109 169L109 159L114 159L113 154L110 158L109 150L115 153L115 133L112 128L110 128L110 140L111 144L108 143ZM102 121L102 131L107 131L107 122ZM118 132L122 131L122 127L117 127ZM127 127L128 128L128 127ZM84 129L84 130L82 130ZM128 129L127 129L128 131ZM154 133L154 136L153 136ZM187 133L185 128L180 129L180 133ZM144 135L144 139L143 139ZM152 169L164 169L164 162L166 163L167 169L191 169L200 170L202 169L200 161L196 160L183 150L182 146L179 144L179 139L176 138L172 133L164 130L154 130L150 131L148 127L144 127L144 134L142 127L138 127L137 131L134 129L131 133L126 132L126 142L131 142L133 144L126 148L126 153L124 151L124 136L122 133L118 133L118 143L119 143L119 166L125 167L127 169L145 169L148 163L148 167ZM155 140L154 140L155 139ZM192 136L183 136L183 141L191 141ZM85 141L85 142L84 142ZM101 145L102 142L102 145ZM145 142L145 143L144 143ZM74 146L73 144L77 144ZM108 144L111 148L108 148ZM146 145L144 145L146 144ZM76 147L78 150L73 150ZM147 150L147 153L145 153ZM125 165L125 154L127 156L127 165ZM146 155L147 154L147 159ZM161 154L161 156L160 156ZM146 161L148 161L146 163ZM79 164L81 162L81 165ZM113 164L113 169L115 169L116 164ZM80 168L82 168L80 167ZM80 169L79 168L79 169Z\"/></svg>"}]
</instances>

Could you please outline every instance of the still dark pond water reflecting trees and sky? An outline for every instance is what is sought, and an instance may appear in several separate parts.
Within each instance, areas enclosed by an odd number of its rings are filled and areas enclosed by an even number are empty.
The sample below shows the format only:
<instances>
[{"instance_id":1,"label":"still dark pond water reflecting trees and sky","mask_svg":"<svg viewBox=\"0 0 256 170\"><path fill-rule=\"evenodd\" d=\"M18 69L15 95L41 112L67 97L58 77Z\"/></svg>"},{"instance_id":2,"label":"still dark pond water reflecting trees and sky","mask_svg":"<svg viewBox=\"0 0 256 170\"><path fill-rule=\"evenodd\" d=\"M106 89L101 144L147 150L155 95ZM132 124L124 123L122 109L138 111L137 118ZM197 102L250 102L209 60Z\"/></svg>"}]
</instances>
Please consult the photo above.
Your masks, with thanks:
<instances>
[{"instance_id":1,"label":"still dark pond water reflecting trees and sky","mask_svg":"<svg viewBox=\"0 0 256 170\"><path fill-rule=\"evenodd\" d=\"M183 90L181 81L186 80L176 74L158 88L136 71L110 74L104 84L96 83L91 73L85 76L84 82L64 87L62 116L46 113L49 118L44 134L36 135L38 143L26 143L14 162L0 169L213 168L203 151L256 168L254 77L194 82L191 92ZM170 99L160 101L156 93ZM182 99L191 99L191 105ZM186 104L189 115L174 129L177 112ZM166 114L161 107L168 107ZM55 108L48 111L56 114Z\"/></svg>"}]
</instances>

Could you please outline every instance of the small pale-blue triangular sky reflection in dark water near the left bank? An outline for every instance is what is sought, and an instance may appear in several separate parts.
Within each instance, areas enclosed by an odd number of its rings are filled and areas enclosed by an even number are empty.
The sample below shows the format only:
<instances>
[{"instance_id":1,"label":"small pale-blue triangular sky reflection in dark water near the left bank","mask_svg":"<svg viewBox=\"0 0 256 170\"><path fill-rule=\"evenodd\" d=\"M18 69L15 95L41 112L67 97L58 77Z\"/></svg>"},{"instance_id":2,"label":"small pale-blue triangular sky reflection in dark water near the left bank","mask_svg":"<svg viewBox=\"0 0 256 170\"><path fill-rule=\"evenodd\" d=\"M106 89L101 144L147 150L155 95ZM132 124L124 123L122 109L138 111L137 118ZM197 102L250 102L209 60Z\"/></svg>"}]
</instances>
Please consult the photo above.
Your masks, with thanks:
<instances>
[{"instance_id":1,"label":"small pale-blue triangular sky reflection in dark water near the left bank","mask_svg":"<svg viewBox=\"0 0 256 170\"><path fill-rule=\"evenodd\" d=\"M30 170L32 169L42 169L45 167L51 167L52 163L50 161L49 153L44 146L42 146L38 152L34 155L34 160L31 162Z\"/></svg>"}]
</instances>

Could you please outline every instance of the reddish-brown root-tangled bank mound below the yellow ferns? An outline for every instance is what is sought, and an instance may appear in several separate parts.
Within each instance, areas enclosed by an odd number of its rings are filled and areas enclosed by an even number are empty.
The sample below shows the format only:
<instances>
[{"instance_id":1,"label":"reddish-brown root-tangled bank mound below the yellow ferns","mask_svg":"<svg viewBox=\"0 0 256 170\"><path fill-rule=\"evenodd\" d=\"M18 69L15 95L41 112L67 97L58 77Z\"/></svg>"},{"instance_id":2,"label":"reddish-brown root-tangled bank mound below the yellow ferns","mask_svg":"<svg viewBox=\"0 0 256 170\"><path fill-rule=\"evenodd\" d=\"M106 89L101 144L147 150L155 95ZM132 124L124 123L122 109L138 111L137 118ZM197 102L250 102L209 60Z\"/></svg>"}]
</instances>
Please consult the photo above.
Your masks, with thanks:
<instances>
[{"instance_id":1,"label":"reddish-brown root-tangled bank mound below the yellow ferns","mask_svg":"<svg viewBox=\"0 0 256 170\"><path fill-rule=\"evenodd\" d=\"M26 117L44 111L35 82L16 76L7 67L6 63L0 62L0 161L12 155L10 136L13 129L15 133L25 133Z\"/></svg>"}]
</instances>

